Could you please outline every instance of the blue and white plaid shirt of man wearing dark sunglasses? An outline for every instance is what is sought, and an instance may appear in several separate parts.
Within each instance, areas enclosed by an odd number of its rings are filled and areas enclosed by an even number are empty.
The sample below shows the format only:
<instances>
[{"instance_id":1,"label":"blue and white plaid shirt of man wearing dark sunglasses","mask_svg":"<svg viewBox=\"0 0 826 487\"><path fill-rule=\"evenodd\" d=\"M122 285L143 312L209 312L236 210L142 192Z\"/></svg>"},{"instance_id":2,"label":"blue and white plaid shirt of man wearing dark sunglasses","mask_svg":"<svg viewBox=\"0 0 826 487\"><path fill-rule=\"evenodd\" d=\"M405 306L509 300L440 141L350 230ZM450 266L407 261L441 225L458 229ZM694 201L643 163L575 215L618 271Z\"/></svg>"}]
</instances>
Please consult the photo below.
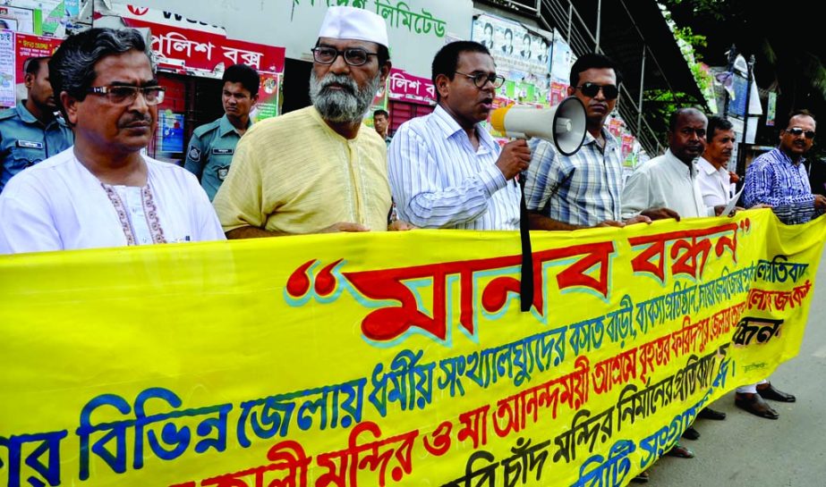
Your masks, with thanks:
<instances>
[{"instance_id":1,"label":"blue and white plaid shirt of man wearing dark sunglasses","mask_svg":"<svg viewBox=\"0 0 826 487\"><path fill-rule=\"evenodd\" d=\"M558 222L593 226L620 220L622 151L605 128L605 152L596 139L585 134L583 147L574 155L561 155L557 147L532 139L531 167L525 182L525 204Z\"/></svg>"}]
</instances>

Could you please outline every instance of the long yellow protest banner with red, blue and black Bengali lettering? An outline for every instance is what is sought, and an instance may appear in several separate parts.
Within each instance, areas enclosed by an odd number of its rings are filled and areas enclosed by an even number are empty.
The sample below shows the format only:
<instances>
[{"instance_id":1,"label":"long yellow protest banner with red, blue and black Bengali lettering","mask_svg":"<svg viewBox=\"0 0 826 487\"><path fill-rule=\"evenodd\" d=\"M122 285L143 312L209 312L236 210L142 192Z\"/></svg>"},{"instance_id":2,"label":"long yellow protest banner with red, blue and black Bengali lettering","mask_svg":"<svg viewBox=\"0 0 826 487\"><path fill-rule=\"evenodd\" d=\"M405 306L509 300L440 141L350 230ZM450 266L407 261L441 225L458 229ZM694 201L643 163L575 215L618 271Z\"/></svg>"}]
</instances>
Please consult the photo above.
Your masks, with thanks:
<instances>
[{"instance_id":1,"label":"long yellow protest banner with red, blue and black Bengali lettering","mask_svg":"<svg viewBox=\"0 0 826 487\"><path fill-rule=\"evenodd\" d=\"M796 355L826 225L770 210L0 258L0 483L625 485Z\"/></svg>"}]
</instances>

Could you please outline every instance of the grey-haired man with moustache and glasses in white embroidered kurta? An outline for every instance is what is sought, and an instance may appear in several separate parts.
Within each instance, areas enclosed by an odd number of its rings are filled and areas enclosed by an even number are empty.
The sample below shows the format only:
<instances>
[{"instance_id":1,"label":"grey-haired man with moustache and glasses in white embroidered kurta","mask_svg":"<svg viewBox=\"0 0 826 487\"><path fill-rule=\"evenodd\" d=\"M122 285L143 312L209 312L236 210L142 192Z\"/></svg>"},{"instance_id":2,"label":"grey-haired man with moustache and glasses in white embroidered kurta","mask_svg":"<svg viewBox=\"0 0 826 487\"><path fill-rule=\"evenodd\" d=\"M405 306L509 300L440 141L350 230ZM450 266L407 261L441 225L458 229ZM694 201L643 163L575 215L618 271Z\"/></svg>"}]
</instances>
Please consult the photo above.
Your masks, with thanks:
<instances>
[{"instance_id":1,"label":"grey-haired man with moustache and glasses in white embroidered kurta","mask_svg":"<svg viewBox=\"0 0 826 487\"><path fill-rule=\"evenodd\" d=\"M74 146L9 181L0 253L224 238L195 177L141 155L164 88L137 30L67 38L49 74Z\"/></svg>"}]
</instances>

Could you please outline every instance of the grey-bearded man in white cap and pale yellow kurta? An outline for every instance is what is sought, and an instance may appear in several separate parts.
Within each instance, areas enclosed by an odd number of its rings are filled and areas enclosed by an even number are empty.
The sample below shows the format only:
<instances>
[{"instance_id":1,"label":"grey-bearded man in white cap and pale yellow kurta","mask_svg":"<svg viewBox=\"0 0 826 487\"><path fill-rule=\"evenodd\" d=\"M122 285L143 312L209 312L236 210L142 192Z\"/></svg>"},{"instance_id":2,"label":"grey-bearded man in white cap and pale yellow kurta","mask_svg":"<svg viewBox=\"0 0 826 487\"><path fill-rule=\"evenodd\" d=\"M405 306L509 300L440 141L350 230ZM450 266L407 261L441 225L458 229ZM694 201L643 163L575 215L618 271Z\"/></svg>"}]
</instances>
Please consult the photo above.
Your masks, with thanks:
<instances>
[{"instance_id":1,"label":"grey-bearded man in white cap and pale yellow kurta","mask_svg":"<svg viewBox=\"0 0 826 487\"><path fill-rule=\"evenodd\" d=\"M238 142L213 202L229 239L388 230L386 145L362 126L390 72L385 21L330 7L311 51L312 105L256 123Z\"/></svg>"}]
</instances>

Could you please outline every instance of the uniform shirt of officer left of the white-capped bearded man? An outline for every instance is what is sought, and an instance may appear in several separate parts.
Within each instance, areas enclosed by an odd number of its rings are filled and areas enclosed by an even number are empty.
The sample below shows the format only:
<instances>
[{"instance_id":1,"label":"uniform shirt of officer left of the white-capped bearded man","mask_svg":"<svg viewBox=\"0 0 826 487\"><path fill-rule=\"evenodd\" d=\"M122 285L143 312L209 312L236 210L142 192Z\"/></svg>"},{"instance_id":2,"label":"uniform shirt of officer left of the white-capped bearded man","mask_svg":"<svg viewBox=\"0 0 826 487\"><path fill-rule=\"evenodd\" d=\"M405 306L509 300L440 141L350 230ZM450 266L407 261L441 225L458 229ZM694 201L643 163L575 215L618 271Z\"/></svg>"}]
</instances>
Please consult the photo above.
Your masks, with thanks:
<instances>
[{"instance_id":1,"label":"uniform shirt of officer left of the white-capped bearded man","mask_svg":"<svg viewBox=\"0 0 826 487\"><path fill-rule=\"evenodd\" d=\"M247 124L247 129L251 125L252 121ZM215 122L201 125L192 133L183 167L198 177L200 185L207 191L209 201L212 201L226 179L239 139L241 136L226 118L226 114Z\"/></svg>"}]
</instances>

